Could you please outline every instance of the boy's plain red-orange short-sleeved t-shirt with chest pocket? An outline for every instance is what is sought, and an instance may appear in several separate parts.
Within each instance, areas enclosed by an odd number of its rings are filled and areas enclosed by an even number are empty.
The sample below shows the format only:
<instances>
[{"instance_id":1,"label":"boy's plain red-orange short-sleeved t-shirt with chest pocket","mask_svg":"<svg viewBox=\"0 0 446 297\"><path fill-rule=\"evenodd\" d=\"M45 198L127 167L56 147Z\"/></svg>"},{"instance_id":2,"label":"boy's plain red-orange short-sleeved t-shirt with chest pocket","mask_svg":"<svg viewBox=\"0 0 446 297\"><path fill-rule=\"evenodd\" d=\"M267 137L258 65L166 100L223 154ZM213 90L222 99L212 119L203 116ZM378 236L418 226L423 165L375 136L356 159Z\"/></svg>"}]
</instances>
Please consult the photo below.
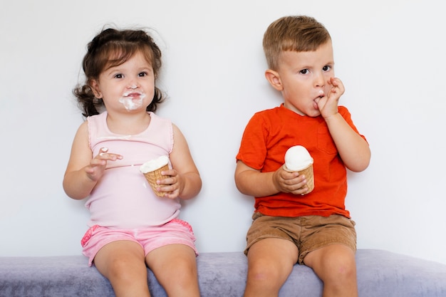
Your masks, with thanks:
<instances>
[{"instance_id":1,"label":"boy's plain red-orange short-sleeved t-shirt with chest pocket","mask_svg":"<svg viewBox=\"0 0 446 297\"><path fill-rule=\"evenodd\" d=\"M358 132L347 108L339 106L338 111ZM283 105L254 114L244 130L237 160L260 172L276 171L285 163L286 150L294 145L306 147L313 157L313 191L305 195L279 192L255 197L255 211L274 217L341 214L349 218L344 204L346 167L321 116L302 116Z\"/></svg>"}]
</instances>

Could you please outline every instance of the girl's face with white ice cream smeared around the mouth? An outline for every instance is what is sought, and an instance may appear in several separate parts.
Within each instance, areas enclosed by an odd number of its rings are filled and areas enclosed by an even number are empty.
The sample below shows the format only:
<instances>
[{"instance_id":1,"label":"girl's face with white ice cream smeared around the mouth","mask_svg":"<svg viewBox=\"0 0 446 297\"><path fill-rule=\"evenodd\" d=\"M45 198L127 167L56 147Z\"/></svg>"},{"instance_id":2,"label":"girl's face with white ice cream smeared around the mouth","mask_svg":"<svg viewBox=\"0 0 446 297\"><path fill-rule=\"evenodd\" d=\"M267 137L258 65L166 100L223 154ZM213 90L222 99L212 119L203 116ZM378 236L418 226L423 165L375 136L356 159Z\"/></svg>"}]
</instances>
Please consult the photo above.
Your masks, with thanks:
<instances>
[{"instance_id":1,"label":"girl's face with white ice cream smeared around the mouth","mask_svg":"<svg viewBox=\"0 0 446 297\"><path fill-rule=\"evenodd\" d=\"M155 74L145 56L137 52L125 63L105 69L93 80L92 88L109 113L145 110L155 94Z\"/></svg>"}]
</instances>

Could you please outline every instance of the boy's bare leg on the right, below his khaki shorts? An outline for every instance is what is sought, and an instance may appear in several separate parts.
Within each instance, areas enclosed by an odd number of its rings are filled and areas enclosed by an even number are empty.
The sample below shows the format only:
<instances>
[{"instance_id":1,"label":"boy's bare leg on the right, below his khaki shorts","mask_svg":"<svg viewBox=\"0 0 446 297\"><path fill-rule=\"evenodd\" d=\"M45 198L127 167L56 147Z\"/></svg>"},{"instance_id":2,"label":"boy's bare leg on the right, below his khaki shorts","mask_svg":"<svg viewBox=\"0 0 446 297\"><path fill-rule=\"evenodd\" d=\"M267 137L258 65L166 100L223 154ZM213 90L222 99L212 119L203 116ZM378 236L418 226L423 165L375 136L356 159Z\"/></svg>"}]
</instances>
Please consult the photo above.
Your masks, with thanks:
<instances>
[{"instance_id":1,"label":"boy's bare leg on the right, below his khaki shorts","mask_svg":"<svg viewBox=\"0 0 446 297\"><path fill-rule=\"evenodd\" d=\"M311 251L304 264L323 281L323 297L358 297L355 252L343 244Z\"/></svg>"}]
</instances>

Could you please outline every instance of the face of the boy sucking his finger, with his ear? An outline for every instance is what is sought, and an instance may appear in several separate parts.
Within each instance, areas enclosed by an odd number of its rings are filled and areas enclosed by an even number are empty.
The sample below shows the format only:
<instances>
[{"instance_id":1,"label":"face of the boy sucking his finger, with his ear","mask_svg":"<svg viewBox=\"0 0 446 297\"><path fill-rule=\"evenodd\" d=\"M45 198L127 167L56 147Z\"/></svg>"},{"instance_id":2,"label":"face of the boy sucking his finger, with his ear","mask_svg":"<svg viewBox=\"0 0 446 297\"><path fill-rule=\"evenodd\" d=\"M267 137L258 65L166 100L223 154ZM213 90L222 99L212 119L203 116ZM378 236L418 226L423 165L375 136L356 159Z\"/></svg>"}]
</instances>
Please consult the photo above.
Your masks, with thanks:
<instances>
[{"instance_id":1,"label":"face of the boy sucking his finger, with his ear","mask_svg":"<svg viewBox=\"0 0 446 297\"><path fill-rule=\"evenodd\" d=\"M284 97L284 107L299 115L321 115L316 101L331 88L328 80L334 77L331 41L316 51L285 51L277 71L266 71L266 78Z\"/></svg>"}]
</instances>

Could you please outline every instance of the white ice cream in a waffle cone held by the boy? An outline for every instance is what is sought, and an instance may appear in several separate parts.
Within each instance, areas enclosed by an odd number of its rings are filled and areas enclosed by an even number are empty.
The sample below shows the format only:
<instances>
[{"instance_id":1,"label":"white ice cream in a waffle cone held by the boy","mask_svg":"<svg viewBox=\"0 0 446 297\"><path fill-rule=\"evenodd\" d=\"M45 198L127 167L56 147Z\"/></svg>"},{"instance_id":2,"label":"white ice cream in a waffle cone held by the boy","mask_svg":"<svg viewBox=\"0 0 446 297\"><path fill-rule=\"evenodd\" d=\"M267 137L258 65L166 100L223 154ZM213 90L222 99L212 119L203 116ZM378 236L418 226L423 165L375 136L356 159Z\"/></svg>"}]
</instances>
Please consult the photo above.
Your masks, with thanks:
<instances>
[{"instance_id":1,"label":"white ice cream in a waffle cone held by the boy","mask_svg":"<svg viewBox=\"0 0 446 297\"><path fill-rule=\"evenodd\" d=\"M306 187L308 187L308 191L304 194L308 194L309 192L313 191L313 158L305 147L295 145L286 151L284 170L288 172L299 172L299 174L305 175Z\"/></svg>"}]
</instances>

